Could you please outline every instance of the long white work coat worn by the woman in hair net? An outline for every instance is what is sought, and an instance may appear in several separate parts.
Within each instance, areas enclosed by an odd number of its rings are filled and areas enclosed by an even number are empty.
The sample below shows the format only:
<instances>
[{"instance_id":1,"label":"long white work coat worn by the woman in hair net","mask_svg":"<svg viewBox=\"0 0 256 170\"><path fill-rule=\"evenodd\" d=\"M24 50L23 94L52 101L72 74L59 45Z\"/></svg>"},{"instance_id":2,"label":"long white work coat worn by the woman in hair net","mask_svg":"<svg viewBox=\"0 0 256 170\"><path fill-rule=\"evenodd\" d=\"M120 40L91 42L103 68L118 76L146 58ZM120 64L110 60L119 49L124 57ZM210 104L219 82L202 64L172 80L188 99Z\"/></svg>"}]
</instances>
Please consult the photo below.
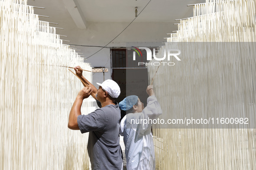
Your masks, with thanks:
<instances>
[{"instance_id":1,"label":"long white work coat worn by the woman in hair net","mask_svg":"<svg viewBox=\"0 0 256 170\"><path fill-rule=\"evenodd\" d=\"M141 113L129 113L120 122L120 135L123 136L127 170L155 170L156 158L151 133L151 123L140 124L139 120L156 119L162 114L156 96L149 96L147 106ZM137 120L131 124L131 119Z\"/></svg>"}]
</instances>

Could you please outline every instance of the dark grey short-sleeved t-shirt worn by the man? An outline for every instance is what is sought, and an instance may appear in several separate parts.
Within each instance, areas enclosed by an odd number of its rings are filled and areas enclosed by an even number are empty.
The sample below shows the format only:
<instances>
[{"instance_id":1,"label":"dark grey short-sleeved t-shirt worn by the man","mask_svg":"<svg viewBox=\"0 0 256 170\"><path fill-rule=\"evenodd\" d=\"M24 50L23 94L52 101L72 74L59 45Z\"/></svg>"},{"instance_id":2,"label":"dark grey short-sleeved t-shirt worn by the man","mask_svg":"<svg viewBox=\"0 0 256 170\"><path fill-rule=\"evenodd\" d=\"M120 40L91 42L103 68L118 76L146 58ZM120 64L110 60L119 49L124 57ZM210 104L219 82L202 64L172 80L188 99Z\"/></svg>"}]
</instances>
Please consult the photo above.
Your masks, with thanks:
<instances>
[{"instance_id":1,"label":"dark grey short-sleeved t-shirt worn by the man","mask_svg":"<svg viewBox=\"0 0 256 170\"><path fill-rule=\"evenodd\" d=\"M88 115L78 116L81 133L89 132L87 150L92 170L122 168L122 152L119 145L120 118L118 104L110 104Z\"/></svg>"}]
</instances>

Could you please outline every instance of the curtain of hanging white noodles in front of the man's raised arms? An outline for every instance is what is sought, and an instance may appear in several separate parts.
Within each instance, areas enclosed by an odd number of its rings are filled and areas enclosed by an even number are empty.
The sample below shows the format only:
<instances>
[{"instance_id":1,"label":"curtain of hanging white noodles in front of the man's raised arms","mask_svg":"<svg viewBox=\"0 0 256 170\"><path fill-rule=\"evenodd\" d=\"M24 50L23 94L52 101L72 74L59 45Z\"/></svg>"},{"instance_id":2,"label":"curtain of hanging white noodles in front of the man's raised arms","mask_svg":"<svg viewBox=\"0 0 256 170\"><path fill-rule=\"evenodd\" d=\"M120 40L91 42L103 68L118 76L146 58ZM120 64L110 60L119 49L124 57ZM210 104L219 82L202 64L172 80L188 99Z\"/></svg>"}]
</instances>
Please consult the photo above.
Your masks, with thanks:
<instances>
[{"instance_id":1,"label":"curtain of hanging white noodles in front of the man's raised arms","mask_svg":"<svg viewBox=\"0 0 256 170\"><path fill-rule=\"evenodd\" d=\"M78 78L91 70L22 0L0 0L0 169L87 169L87 135L68 129ZM84 72L91 81L91 72ZM88 113L92 98L83 103Z\"/></svg>"}]
</instances>

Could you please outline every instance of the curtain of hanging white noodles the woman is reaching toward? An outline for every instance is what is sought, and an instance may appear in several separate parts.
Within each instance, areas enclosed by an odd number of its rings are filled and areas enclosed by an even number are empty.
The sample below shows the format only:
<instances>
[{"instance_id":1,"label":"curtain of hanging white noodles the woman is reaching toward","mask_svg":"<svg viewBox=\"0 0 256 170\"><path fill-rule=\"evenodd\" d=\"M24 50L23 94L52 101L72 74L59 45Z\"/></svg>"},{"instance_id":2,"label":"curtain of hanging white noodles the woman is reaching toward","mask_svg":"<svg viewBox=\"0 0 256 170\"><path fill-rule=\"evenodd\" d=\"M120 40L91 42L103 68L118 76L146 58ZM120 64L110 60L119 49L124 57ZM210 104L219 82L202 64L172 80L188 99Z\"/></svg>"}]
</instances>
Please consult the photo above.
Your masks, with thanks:
<instances>
[{"instance_id":1,"label":"curtain of hanging white noodles the woman is reaching toward","mask_svg":"<svg viewBox=\"0 0 256 170\"><path fill-rule=\"evenodd\" d=\"M164 56L164 49L181 50L181 61L171 57L175 66L160 65L153 82L163 110L161 119L200 115L216 123L217 118L247 117L253 129L232 128L230 123L224 129L220 122L216 129L157 125L158 169L256 169L255 9L255 0L195 4L194 16L182 19L177 33L160 48L158 58ZM162 62L170 61L166 57ZM149 83L157 68L149 65Z\"/></svg>"}]
</instances>

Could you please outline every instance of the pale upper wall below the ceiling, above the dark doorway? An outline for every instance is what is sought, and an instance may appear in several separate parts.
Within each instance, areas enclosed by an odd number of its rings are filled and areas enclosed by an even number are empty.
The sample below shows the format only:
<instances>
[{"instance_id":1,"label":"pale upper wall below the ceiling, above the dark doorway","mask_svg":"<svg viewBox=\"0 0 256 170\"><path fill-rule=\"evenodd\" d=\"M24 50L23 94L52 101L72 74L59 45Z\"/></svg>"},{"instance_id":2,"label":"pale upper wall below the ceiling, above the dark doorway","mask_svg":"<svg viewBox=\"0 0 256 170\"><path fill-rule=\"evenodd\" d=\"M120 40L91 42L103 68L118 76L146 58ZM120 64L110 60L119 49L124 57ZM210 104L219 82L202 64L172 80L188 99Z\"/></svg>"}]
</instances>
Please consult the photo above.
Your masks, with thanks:
<instances>
[{"instance_id":1,"label":"pale upper wall below the ceiling, above the dark doorway","mask_svg":"<svg viewBox=\"0 0 256 170\"><path fill-rule=\"evenodd\" d=\"M65 44L96 45L105 46L115 38L128 25L128 22L87 22L87 29L78 29L74 22L59 22L59 27L64 30L57 30L60 35L67 35L71 42ZM165 42L167 33L177 30L173 22L133 22L109 47L126 47L126 42ZM83 53L85 58L94 54L99 47L80 47L79 53ZM86 60L91 66L105 66L109 72L105 73L105 80L111 79L110 69L110 49L104 48L94 56ZM103 73L93 74L93 84L103 82Z\"/></svg>"}]
</instances>

